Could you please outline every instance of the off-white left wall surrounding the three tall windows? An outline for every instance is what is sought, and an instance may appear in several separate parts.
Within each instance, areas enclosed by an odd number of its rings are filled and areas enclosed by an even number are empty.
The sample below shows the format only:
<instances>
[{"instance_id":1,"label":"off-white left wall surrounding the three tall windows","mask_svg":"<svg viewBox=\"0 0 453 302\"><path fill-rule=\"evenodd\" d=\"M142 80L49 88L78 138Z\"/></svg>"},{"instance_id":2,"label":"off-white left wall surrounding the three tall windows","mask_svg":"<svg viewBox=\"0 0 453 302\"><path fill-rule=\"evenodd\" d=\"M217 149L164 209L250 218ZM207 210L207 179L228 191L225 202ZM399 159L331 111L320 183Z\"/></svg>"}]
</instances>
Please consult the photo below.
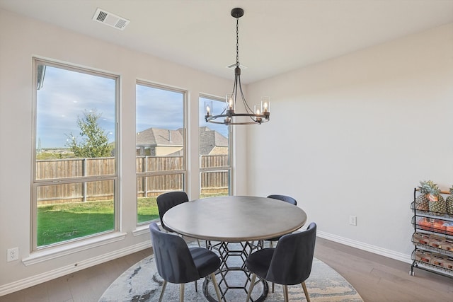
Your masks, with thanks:
<instances>
[{"instance_id":1,"label":"off-white left wall surrounding the three tall windows","mask_svg":"<svg viewBox=\"0 0 453 302\"><path fill-rule=\"evenodd\" d=\"M120 33L120 32L118 32ZM144 37L146 38L146 37ZM30 255L30 180L32 139L32 57L39 56L119 74L120 89L120 229L123 240L25 266L6 262L6 250ZM232 79L219 79L147 54L110 45L62 28L0 10L0 296L38 281L83 269L149 246L149 233L136 230L135 81L144 79L189 91L190 198L198 197L198 95L222 97ZM243 133L236 136L243 139ZM241 154L236 156L238 161ZM239 175L246 175L239 168ZM246 191L242 176L236 192ZM77 267L74 265L77 264Z\"/></svg>"}]
</instances>

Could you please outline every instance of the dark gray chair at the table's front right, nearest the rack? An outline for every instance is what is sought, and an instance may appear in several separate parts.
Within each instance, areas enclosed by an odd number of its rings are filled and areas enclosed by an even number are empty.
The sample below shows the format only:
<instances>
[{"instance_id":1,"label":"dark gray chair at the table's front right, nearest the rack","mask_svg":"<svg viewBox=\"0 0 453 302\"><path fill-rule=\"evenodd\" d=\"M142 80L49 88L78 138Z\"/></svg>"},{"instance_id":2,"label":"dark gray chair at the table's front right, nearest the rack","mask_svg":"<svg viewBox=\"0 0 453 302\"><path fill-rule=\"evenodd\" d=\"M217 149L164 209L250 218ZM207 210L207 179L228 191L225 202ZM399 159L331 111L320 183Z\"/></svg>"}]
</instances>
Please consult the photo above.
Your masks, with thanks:
<instances>
[{"instance_id":1,"label":"dark gray chair at the table's front right, nearest the rack","mask_svg":"<svg viewBox=\"0 0 453 302\"><path fill-rule=\"evenodd\" d=\"M256 276L267 281L282 284L285 302L288 301L288 285L302 284L306 301L310 301L305 280L311 273L316 223L312 222L305 231L282 236L275 248L263 248L249 255L246 267L252 273L246 302L250 301Z\"/></svg>"}]
</instances>

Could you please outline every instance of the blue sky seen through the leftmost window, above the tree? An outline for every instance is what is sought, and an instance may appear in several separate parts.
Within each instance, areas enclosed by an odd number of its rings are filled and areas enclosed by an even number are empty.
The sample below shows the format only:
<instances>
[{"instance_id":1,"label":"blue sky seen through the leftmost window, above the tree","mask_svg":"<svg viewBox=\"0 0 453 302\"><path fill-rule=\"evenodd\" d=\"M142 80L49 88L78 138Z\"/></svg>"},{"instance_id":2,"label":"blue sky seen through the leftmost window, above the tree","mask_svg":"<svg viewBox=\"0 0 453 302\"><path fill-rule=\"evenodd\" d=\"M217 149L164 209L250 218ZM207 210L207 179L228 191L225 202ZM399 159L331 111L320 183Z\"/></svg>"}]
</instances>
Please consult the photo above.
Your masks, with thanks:
<instances>
[{"instance_id":1,"label":"blue sky seen through the leftmost window, above the tree","mask_svg":"<svg viewBox=\"0 0 453 302\"><path fill-rule=\"evenodd\" d=\"M36 139L42 148L64 147L67 135L79 137L77 118L85 110L101 115L98 124L115 139L115 80L47 66L37 91Z\"/></svg>"}]
</instances>

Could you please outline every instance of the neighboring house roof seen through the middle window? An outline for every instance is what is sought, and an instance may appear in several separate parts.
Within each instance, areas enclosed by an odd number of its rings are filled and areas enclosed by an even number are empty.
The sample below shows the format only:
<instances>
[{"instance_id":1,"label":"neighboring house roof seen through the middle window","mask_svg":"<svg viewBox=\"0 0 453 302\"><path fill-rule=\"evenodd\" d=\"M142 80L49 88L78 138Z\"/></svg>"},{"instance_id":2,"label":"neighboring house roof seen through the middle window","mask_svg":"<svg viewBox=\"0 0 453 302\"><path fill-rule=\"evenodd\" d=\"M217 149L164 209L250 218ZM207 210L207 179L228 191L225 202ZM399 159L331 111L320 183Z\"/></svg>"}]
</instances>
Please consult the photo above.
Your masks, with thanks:
<instances>
[{"instance_id":1,"label":"neighboring house roof seen through the middle window","mask_svg":"<svg viewBox=\"0 0 453 302\"><path fill-rule=\"evenodd\" d=\"M183 146L180 130L149 128L135 135L138 146Z\"/></svg>"}]
</instances>

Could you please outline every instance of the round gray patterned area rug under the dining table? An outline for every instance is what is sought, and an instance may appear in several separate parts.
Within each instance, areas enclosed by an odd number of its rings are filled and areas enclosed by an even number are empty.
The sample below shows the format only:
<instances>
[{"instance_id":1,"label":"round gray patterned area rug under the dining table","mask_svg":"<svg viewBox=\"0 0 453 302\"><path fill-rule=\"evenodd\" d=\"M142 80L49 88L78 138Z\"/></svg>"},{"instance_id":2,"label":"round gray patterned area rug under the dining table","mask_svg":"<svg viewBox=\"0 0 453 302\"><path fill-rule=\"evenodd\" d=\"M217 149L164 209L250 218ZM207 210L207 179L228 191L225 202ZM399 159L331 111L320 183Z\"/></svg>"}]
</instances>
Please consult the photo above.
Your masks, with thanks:
<instances>
[{"instance_id":1,"label":"round gray patterned area rug under the dining table","mask_svg":"<svg viewBox=\"0 0 453 302\"><path fill-rule=\"evenodd\" d=\"M236 257L239 258L239 257ZM234 261L241 261L234 260ZM243 274L243 273L242 273ZM227 274L231 282L238 281L245 276ZM195 291L193 282L185 284L185 299L190 302L205 302L207 299L203 295L203 279L197 281L198 291ZM240 281L240 280L239 280ZM306 279L306 288L309 292L310 300L313 302L358 302L363 301L357 291L334 269L318 259L314 259L313 267L309 279ZM159 301L163 280L159 276L154 262L153 255L144 258L127 269L113 284L110 284L104 292L99 302L139 302L139 301ZM271 291L272 284L269 282L269 292L265 301L283 301L282 286L275 284L275 292ZM248 287L248 286L247 286ZM211 296L215 296L212 283L208 284L207 290ZM259 283L253 289L252 298L255 300L263 291L263 284ZM306 301L304 291L300 284L288 286L289 301ZM245 301L246 294L243 290L229 289L225 294L226 301ZM164 293L164 301L179 301L179 285L168 283Z\"/></svg>"}]
</instances>

